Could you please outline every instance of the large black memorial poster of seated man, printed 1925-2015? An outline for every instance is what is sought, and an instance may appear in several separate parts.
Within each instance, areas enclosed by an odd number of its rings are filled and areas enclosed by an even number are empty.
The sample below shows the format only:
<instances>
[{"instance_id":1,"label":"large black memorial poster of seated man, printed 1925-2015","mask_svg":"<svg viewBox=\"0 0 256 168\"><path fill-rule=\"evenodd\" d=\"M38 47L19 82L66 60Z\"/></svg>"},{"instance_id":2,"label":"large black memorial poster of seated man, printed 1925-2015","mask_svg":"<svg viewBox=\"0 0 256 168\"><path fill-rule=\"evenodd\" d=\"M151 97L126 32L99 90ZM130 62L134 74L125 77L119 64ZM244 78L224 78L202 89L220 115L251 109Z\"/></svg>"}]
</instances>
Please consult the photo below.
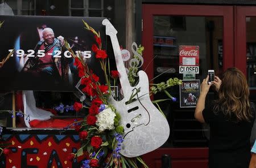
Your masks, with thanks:
<instances>
[{"instance_id":1,"label":"large black memorial poster of seated man, printed 1925-2015","mask_svg":"<svg viewBox=\"0 0 256 168\"><path fill-rule=\"evenodd\" d=\"M0 16L0 90L76 91L80 80L74 59L61 38L74 53L80 53L93 72L104 79L94 57L93 33L82 20L100 32L106 49L105 18L63 16ZM48 36L49 34L49 36ZM64 41L63 40L63 41ZM13 51L9 59L6 56Z\"/></svg>"}]
</instances>

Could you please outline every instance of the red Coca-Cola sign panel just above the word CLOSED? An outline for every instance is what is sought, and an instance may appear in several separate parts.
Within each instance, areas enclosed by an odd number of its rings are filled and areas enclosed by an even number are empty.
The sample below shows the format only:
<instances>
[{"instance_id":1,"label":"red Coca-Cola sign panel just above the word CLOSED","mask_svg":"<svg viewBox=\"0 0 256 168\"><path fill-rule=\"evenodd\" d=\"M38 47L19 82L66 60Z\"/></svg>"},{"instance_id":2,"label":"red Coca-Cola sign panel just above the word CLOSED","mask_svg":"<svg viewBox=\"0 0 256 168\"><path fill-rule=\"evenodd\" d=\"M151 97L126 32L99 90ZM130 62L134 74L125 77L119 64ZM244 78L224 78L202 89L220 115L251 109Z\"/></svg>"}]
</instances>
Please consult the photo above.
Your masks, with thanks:
<instances>
[{"instance_id":1,"label":"red Coca-Cola sign panel just above the word CLOSED","mask_svg":"<svg viewBox=\"0 0 256 168\"><path fill-rule=\"evenodd\" d=\"M180 66L199 66L199 46L179 46Z\"/></svg>"}]
</instances>

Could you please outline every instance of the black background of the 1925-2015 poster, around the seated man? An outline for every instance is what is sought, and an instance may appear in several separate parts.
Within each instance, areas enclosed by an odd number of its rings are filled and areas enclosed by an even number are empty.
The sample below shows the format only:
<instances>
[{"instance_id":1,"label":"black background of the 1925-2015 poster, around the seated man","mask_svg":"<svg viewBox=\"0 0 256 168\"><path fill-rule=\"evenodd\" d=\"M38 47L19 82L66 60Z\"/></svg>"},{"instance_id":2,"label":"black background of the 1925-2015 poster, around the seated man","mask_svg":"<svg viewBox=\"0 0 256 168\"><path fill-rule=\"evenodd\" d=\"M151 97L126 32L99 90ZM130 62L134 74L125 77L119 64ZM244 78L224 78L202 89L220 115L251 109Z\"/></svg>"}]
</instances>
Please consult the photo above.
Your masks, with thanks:
<instances>
[{"instance_id":1,"label":"black background of the 1925-2015 poster, around the seated man","mask_svg":"<svg viewBox=\"0 0 256 168\"><path fill-rule=\"evenodd\" d=\"M53 73L49 79L41 74L28 75L23 72L24 58L18 57L18 53L32 53L36 44L42 37L43 28L52 28L55 38L63 36L72 46L74 51L91 52L91 57L86 58L86 63L93 72L104 79L100 63L91 51L96 44L92 32L85 29L82 20L86 21L97 32L100 32L102 49L106 48L105 26L102 20L105 18L63 17L63 16L0 16L2 27L0 28L0 62L14 49L13 57L10 57L0 68L0 91L77 91L75 85L79 81L77 70L72 66L73 58L66 58L61 49L61 68L69 68L68 74L58 76ZM40 34L41 32L41 34ZM18 51L18 53L17 53ZM36 54L36 53L35 53ZM34 55L35 55L34 54ZM67 53L66 53L67 54ZM22 54L20 54L22 55Z\"/></svg>"}]
</instances>

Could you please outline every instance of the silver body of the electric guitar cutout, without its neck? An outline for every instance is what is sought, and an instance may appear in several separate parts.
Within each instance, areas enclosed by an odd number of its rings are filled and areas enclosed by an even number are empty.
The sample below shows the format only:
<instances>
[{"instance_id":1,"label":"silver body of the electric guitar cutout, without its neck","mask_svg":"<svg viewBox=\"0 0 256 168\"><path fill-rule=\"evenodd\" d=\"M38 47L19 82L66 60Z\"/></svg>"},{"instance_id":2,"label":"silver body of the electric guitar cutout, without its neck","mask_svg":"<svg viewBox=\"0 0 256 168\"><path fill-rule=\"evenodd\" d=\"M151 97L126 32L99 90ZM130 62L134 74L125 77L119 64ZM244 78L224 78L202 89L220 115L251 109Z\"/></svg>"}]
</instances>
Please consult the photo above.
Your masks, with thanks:
<instances>
[{"instance_id":1,"label":"silver body of the electric guitar cutout, without its neck","mask_svg":"<svg viewBox=\"0 0 256 168\"><path fill-rule=\"evenodd\" d=\"M129 87L125 90L130 90L130 94L135 88L141 88L141 91L138 92L138 97L142 96L141 98L126 105L130 97L125 97L121 101L115 101L113 97L110 97L110 102L121 115L121 124L125 133L120 153L126 157L137 157L159 148L166 142L170 134L167 119L150 100L146 73L139 71L138 74L139 83L136 87L130 87L130 84L122 87ZM128 113L128 110L134 107L135 109L138 107L138 109ZM134 118L135 121L132 122Z\"/></svg>"}]
</instances>

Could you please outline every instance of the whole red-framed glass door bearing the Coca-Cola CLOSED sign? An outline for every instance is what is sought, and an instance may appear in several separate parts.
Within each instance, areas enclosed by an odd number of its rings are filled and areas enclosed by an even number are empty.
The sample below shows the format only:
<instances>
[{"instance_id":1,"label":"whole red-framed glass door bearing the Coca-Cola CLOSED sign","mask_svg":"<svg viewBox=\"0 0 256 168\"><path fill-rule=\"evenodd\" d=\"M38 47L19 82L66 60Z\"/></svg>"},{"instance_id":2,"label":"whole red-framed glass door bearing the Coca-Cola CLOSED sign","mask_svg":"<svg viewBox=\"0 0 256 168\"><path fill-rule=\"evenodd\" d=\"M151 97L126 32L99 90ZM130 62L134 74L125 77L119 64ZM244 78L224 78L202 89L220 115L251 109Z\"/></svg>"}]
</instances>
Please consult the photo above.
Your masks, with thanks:
<instances>
[{"instance_id":1,"label":"whole red-framed glass door bearing the Coca-Cola CLOSED sign","mask_svg":"<svg viewBox=\"0 0 256 168\"><path fill-rule=\"evenodd\" d=\"M148 66L149 80L154 79L151 83L174 77L183 79L183 74L179 73L183 46L195 46L199 50L199 71L195 79L200 81L210 69L221 76L226 68L234 66L233 45L230 45L233 44L233 7L143 5L142 14L144 66ZM177 101L160 105L170 124L170 137L162 148L144 158L150 167L160 167L161 154L171 155L174 168L207 167L209 127L195 120L195 107L180 107L183 99L179 97L179 87L173 87L170 93ZM163 98L163 94L154 96L155 100ZM208 102L213 99L214 91L210 91Z\"/></svg>"}]
</instances>

